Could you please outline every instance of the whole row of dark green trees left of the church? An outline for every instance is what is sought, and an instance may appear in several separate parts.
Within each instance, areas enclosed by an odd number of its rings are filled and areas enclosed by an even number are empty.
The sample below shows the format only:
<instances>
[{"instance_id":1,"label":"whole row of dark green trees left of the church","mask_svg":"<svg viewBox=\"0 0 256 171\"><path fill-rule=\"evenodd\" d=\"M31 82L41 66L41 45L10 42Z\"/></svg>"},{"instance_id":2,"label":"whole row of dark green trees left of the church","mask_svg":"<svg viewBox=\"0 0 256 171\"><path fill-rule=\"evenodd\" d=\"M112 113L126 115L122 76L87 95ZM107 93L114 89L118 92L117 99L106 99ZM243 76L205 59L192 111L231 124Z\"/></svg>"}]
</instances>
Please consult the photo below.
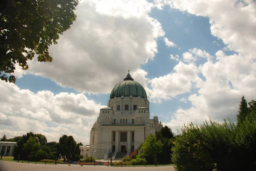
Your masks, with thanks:
<instances>
[{"instance_id":1,"label":"whole row of dark green trees left of the church","mask_svg":"<svg viewBox=\"0 0 256 171\"><path fill-rule=\"evenodd\" d=\"M43 134L32 132L11 139L3 135L1 141L17 142L13 151L14 160L20 155L20 160L30 161L55 160L55 157L59 159L61 156L64 157L64 161L79 160L81 158L79 145L83 145L81 142L76 143L72 136L62 135L59 142L47 142Z\"/></svg>"}]
</instances>

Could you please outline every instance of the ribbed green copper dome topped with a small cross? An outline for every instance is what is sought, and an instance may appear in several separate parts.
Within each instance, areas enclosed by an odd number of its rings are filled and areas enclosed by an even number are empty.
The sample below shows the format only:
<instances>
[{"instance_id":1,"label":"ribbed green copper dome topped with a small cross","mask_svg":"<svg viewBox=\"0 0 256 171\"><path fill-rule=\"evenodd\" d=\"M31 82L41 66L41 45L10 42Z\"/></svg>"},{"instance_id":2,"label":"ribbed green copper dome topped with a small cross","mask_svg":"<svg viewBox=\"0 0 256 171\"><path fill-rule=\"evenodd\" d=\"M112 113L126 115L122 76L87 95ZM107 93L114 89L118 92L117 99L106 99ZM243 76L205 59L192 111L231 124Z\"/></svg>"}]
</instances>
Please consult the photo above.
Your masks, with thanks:
<instances>
[{"instance_id":1,"label":"ribbed green copper dome topped with a small cross","mask_svg":"<svg viewBox=\"0 0 256 171\"><path fill-rule=\"evenodd\" d=\"M113 88L110 94L111 99L113 99L114 97L121 97L121 96L124 96L124 97L140 96L143 99L144 98L147 99L147 93L145 89L143 88L142 85L134 81L134 79L129 74L129 70L125 79L122 82L116 84L116 86Z\"/></svg>"}]
</instances>

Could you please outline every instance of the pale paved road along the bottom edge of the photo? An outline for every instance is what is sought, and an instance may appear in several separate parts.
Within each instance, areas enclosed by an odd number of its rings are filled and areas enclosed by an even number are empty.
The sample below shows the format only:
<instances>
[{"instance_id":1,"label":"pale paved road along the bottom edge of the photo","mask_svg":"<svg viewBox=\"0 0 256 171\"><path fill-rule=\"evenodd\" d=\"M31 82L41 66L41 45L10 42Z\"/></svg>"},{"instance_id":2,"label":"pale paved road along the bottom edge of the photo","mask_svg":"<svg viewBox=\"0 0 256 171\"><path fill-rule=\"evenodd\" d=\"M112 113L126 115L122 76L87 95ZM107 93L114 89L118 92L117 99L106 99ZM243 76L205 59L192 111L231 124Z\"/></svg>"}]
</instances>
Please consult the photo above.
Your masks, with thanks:
<instances>
[{"instance_id":1,"label":"pale paved road along the bottom edge of the photo","mask_svg":"<svg viewBox=\"0 0 256 171\"><path fill-rule=\"evenodd\" d=\"M174 171L173 166L160 167L108 167L104 165L44 165L0 161L0 171Z\"/></svg>"}]
</instances>

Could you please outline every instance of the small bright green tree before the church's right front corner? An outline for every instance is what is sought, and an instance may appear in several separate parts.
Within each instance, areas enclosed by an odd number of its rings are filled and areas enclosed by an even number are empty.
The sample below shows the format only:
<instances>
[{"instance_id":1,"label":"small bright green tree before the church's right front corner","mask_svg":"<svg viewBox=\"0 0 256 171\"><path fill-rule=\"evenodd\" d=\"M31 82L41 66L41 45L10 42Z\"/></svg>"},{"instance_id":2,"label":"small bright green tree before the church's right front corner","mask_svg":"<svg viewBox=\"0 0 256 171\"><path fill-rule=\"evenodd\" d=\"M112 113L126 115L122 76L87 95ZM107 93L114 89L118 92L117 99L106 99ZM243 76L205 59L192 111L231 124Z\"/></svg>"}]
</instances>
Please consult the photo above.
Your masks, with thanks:
<instances>
[{"instance_id":1,"label":"small bright green tree before the church's right front corner","mask_svg":"<svg viewBox=\"0 0 256 171\"><path fill-rule=\"evenodd\" d=\"M144 154L145 157L150 157L151 160L154 161L154 159L157 157L157 154L162 151L162 148L163 144L160 142L160 140L157 140L155 135L149 134L140 150L143 150L143 153L141 154Z\"/></svg>"}]
</instances>

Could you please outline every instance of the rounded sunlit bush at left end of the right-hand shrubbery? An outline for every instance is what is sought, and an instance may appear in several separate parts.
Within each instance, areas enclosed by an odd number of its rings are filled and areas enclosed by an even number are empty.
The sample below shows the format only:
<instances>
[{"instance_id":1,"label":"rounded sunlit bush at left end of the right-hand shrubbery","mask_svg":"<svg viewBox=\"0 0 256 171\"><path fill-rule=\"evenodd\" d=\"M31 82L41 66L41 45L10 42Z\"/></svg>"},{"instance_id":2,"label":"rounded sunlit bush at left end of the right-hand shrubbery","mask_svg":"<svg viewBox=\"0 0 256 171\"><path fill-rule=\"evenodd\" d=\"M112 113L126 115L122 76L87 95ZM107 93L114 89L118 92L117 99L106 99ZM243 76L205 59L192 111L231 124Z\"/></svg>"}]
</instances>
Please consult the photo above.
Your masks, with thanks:
<instances>
[{"instance_id":1,"label":"rounded sunlit bush at left end of the right-hand shrubbery","mask_svg":"<svg viewBox=\"0 0 256 171\"><path fill-rule=\"evenodd\" d=\"M172 161L177 171L212 171L214 164L209 152L202 147L200 128L190 123L181 128L175 138Z\"/></svg>"}]
</instances>

